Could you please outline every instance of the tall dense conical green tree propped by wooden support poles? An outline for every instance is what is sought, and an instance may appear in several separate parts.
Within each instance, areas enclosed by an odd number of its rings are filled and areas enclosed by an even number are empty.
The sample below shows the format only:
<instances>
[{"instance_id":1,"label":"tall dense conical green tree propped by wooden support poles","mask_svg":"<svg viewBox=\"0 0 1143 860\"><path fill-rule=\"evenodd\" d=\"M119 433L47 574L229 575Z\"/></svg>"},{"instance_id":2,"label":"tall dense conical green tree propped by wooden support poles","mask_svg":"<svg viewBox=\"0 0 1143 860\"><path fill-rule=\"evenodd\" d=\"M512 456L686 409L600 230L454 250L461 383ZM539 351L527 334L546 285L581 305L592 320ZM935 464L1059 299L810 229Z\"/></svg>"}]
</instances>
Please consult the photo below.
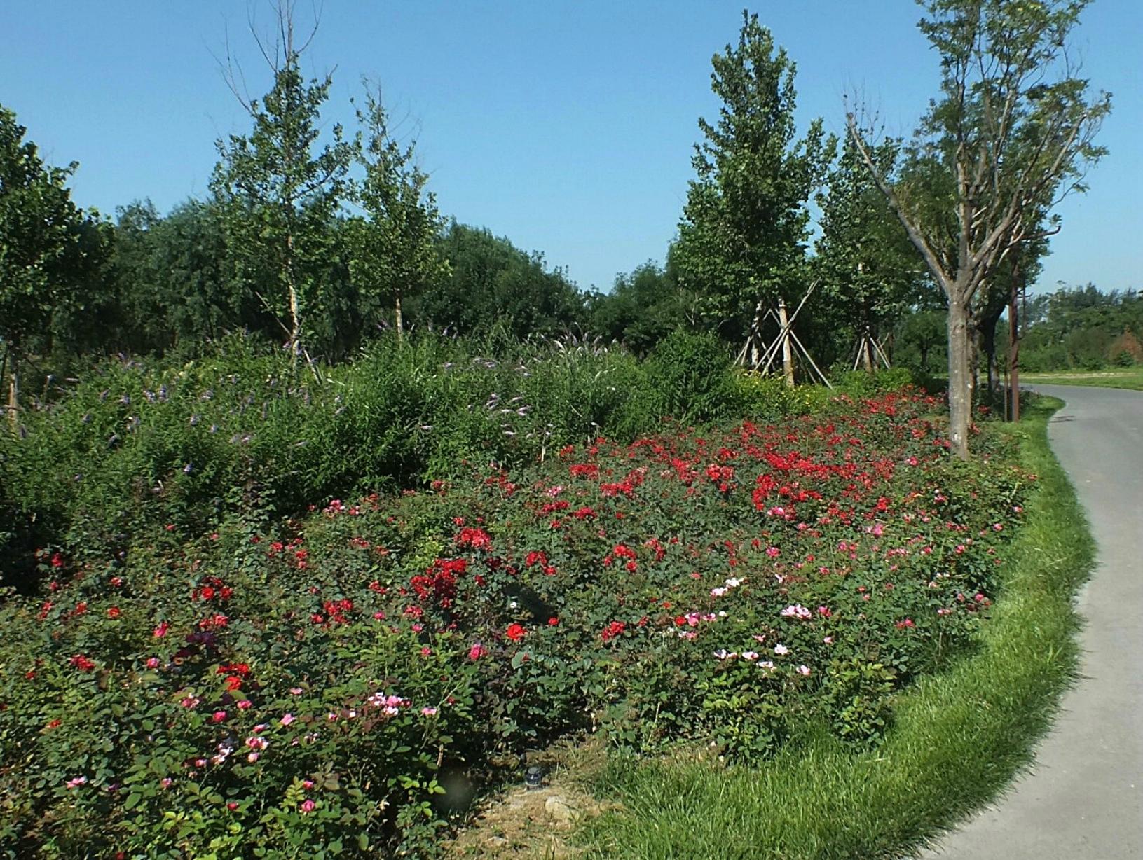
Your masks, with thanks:
<instances>
[{"instance_id":1,"label":"tall dense conical green tree propped by wooden support poles","mask_svg":"<svg viewBox=\"0 0 1143 860\"><path fill-rule=\"evenodd\" d=\"M698 120L697 174L679 224L680 282L726 337L745 336L760 302L804 291L807 201L834 142L814 120L796 139L794 63L775 50L757 15L743 13L737 47L712 58L717 122Z\"/></svg>"}]
</instances>

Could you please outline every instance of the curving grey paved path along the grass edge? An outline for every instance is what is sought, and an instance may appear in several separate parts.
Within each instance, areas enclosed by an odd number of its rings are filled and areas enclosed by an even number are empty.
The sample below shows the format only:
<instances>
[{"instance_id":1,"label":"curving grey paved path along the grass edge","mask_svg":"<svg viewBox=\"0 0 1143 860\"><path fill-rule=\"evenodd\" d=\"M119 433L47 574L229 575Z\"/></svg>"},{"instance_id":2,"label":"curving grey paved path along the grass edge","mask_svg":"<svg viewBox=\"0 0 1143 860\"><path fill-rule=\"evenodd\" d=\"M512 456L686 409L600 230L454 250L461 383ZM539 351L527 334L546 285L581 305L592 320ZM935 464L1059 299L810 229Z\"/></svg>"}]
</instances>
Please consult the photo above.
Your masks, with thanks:
<instances>
[{"instance_id":1,"label":"curving grey paved path along the grass edge","mask_svg":"<svg viewBox=\"0 0 1143 860\"><path fill-rule=\"evenodd\" d=\"M1143 392L1037 385L1066 401L1048 439L1098 545L1079 596L1084 680L1033 773L930 860L1143 858Z\"/></svg>"}]
</instances>

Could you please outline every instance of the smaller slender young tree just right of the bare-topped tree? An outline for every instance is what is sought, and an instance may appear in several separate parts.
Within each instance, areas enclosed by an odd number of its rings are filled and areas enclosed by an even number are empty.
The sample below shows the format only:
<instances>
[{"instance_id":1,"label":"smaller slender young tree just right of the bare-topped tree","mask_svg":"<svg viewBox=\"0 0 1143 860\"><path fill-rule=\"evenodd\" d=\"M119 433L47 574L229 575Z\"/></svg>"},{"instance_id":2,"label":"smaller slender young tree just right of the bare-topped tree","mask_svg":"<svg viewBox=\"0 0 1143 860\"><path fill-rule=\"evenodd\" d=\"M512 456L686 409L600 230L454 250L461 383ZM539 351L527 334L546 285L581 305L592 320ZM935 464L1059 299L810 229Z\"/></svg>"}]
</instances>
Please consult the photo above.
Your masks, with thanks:
<instances>
[{"instance_id":1,"label":"smaller slender young tree just right of the bare-topped tree","mask_svg":"<svg viewBox=\"0 0 1143 860\"><path fill-rule=\"evenodd\" d=\"M387 303L397 335L405 333L401 302L415 297L447 273L438 254L442 222L429 176L413 161L414 145L401 146L390 134L379 94L366 93L358 120L365 127L359 160L365 177L354 199L367 218L349 224L350 274L359 300L370 307Z\"/></svg>"}]
</instances>

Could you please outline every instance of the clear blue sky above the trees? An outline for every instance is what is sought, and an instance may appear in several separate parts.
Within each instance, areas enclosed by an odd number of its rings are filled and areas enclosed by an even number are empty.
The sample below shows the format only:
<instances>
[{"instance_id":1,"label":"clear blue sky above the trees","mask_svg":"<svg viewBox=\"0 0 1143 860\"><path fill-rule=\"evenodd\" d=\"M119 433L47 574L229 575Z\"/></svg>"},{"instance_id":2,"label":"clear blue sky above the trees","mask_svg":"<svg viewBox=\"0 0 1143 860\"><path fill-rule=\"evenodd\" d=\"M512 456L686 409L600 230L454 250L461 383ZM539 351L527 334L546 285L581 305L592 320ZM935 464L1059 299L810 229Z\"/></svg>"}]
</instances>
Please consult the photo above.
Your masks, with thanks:
<instances>
[{"instance_id":1,"label":"clear blue sky above the trees","mask_svg":"<svg viewBox=\"0 0 1143 860\"><path fill-rule=\"evenodd\" d=\"M326 116L350 126L360 78L410 118L441 211L543 251L584 288L662 259L692 177L696 120L713 116L710 58L736 41L743 0L326 0L305 63L334 71ZM312 16L298 0L298 18ZM798 63L802 127L841 131L858 90L890 134L935 94L936 57L911 0L766 0L752 10ZM3 0L0 104L54 163L80 162L73 196L111 214L207 192L214 142L248 129L215 55L225 34L253 95L270 83L247 26L262 0ZM1092 190L1058 210L1041 289L1057 280L1143 287L1143 2L1096 0L1077 32L1085 74L1114 95Z\"/></svg>"}]
</instances>

